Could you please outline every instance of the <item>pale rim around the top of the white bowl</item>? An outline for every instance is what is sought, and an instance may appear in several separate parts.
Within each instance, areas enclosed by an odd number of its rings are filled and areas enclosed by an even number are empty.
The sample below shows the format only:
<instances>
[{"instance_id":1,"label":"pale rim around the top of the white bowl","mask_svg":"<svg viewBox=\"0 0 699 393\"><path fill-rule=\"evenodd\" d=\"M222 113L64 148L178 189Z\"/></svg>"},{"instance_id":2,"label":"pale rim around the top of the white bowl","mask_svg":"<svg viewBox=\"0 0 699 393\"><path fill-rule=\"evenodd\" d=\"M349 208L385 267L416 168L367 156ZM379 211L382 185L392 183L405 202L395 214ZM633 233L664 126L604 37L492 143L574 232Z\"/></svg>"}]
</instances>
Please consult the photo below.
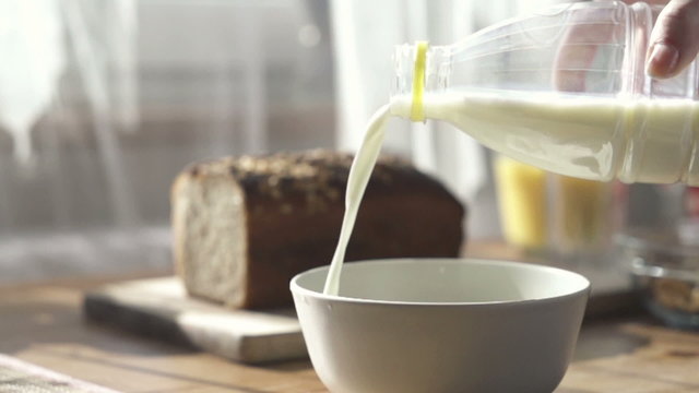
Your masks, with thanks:
<instances>
[{"instance_id":1,"label":"pale rim around the top of the white bowl","mask_svg":"<svg viewBox=\"0 0 699 393\"><path fill-rule=\"evenodd\" d=\"M301 287L298 284L298 281L311 273L316 273L318 271L328 270L329 265L322 265L313 269L309 269L301 273L296 274L289 282L289 289L294 295L304 295L309 296L311 298L333 301L333 302L344 302L344 303L363 303L363 305L375 305L375 306L405 306L405 307L512 307L512 306L521 306L529 303L544 303L544 302L553 302L553 301L561 301L568 298L579 297L581 295L589 296L591 291L591 283L585 276L580 273L572 272L569 270L548 266L536 263L528 263L528 262L517 262L517 261L507 261L507 260L497 260L497 259L485 259L485 258L388 258L388 259L375 259L375 260L362 260L362 261L351 261L350 265L366 265L366 264L375 264L375 263L388 263L388 264L399 264L406 262L415 262L415 261L439 261L441 263L449 264L461 264L461 263L472 263L472 264L481 264L481 265L506 265L506 266L518 266L523 269L536 270L536 271L547 271L555 272L556 274L566 274L572 275L576 278L580 279L583 284L581 288L571 290L569 293L565 293L562 295L557 296L547 296L541 298L532 298L532 299L521 299L521 300L493 300L493 301L403 301L403 300L375 300L375 299L365 299L365 298L355 298L340 295L327 295L322 291L307 289ZM429 262L433 263L433 262ZM345 266L343 266L345 269Z\"/></svg>"}]
</instances>

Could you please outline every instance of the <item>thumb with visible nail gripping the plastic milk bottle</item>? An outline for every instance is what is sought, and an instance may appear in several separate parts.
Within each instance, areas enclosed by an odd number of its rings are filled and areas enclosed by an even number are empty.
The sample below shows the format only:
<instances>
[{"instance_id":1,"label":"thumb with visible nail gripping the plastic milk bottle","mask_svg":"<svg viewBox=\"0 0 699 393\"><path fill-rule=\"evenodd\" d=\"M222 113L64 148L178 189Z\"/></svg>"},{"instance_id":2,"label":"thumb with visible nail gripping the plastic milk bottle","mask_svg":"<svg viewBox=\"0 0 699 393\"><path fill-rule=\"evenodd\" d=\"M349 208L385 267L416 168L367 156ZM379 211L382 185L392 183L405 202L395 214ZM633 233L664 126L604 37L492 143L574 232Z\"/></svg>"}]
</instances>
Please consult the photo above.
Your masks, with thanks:
<instances>
[{"instance_id":1,"label":"thumb with visible nail gripping the plastic milk bottle","mask_svg":"<svg viewBox=\"0 0 699 393\"><path fill-rule=\"evenodd\" d=\"M672 0L661 11L648 49L645 72L671 78L684 70L699 51L699 0Z\"/></svg>"}]
</instances>

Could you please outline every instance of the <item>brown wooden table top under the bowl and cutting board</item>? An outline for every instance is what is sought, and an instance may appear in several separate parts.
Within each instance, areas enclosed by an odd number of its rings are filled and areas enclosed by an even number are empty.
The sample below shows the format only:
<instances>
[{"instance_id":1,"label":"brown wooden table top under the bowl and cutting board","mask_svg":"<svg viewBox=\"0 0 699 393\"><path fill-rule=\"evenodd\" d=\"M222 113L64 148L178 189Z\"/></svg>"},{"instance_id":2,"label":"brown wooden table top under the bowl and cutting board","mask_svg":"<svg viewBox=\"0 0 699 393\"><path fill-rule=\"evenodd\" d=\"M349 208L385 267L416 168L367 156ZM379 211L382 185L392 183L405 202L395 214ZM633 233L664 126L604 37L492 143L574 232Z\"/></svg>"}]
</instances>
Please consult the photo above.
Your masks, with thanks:
<instances>
[{"instance_id":1,"label":"brown wooden table top under the bowl and cutting board","mask_svg":"<svg viewBox=\"0 0 699 393\"><path fill-rule=\"evenodd\" d=\"M123 392L325 392L306 360L245 366L84 321L96 284L0 288L0 353ZM699 392L699 334L643 315L588 321L556 392Z\"/></svg>"}]
</instances>

